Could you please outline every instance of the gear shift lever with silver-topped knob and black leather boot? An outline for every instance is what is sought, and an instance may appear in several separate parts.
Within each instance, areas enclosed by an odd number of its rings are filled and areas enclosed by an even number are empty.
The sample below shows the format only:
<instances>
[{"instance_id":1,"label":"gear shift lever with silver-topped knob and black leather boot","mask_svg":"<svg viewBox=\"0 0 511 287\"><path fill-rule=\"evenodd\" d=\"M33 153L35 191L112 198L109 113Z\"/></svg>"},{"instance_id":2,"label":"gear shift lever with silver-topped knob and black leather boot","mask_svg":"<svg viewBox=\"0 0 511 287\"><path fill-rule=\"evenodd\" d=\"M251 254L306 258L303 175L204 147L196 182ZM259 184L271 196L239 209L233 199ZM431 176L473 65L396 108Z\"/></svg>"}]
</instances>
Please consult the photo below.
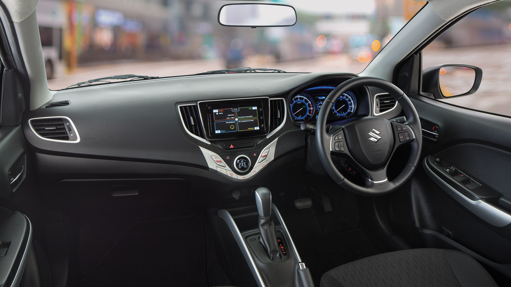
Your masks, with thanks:
<instances>
[{"instance_id":1,"label":"gear shift lever with silver-topped knob and black leather boot","mask_svg":"<svg viewBox=\"0 0 511 287\"><path fill-rule=\"evenodd\" d=\"M271 261L281 259L277 246L277 235L275 224L271 218L271 193L266 187L259 187L255 190L255 204L259 211L259 233L261 244L264 246Z\"/></svg>"}]
</instances>

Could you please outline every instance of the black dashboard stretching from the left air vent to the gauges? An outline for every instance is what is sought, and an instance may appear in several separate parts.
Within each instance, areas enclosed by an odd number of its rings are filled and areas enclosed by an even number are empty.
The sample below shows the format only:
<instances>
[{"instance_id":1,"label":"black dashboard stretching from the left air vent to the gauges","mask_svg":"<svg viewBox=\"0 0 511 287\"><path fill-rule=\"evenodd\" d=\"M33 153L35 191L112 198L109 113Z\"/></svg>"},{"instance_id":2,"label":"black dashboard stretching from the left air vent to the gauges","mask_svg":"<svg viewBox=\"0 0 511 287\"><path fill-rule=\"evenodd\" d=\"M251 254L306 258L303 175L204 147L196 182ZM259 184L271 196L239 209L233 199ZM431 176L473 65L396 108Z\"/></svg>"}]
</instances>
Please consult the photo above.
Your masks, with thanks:
<instances>
[{"instance_id":1,"label":"black dashboard stretching from the left air vent to the gauges","mask_svg":"<svg viewBox=\"0 0 511 287\"><path fill-rule=\"evenodd\" d=\"M274 180L290 162L303 162L307 135L300 124L314 124L322 101L354 77L242 73L60 90L49 103L69 104L30 111L23 127L39 172L54 181L156 173L192 185L202 178L197 188L224 192ZM329 111L329 123L374 115L371 103L381 92L346 91ZM394 105L384 116L400 112ZM56 125L60 137L51 137Z\"/></svg>"}]
</instances>

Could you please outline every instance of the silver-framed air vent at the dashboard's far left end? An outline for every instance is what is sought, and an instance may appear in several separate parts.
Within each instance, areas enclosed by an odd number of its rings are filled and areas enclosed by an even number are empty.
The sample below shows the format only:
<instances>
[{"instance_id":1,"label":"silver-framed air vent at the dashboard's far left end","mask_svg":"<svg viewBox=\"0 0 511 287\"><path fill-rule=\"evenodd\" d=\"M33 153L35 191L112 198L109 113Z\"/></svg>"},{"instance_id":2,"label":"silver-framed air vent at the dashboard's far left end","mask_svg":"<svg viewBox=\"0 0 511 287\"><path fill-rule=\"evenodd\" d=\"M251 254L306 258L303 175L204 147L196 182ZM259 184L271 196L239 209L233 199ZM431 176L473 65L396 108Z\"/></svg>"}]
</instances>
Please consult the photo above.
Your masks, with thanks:
<instances>
[{"instance_id":1,"label":"silver-framed air vent at the dashboard's far left end","mask_svg":"<svg viewBox=\"0 0 511 287\"><path fill-rule=\"evenodd\" d=\"M75 125L66 116L31 118L29 124L39 138L61 142L80 141Z\"/></svg>"}]
</instances>

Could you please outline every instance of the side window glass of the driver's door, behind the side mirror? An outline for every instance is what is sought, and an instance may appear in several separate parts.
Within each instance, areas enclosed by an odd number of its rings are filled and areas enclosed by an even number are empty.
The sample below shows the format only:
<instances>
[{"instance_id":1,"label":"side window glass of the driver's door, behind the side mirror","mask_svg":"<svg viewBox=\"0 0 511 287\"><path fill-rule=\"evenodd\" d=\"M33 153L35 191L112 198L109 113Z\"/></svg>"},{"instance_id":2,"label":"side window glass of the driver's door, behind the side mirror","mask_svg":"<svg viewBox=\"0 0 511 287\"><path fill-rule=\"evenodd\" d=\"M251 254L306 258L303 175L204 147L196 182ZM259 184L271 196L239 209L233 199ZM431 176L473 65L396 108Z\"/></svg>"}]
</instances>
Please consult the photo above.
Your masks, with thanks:
<instances>
[{"instance_id":1,"label":"side window glass of the driver's door, behind the side mirror","mask_svg":"<svg viewBox=\"0 0 511 287\"><path fill-rule=\"evenodd\" d=\"M497 2L472 12L423 51L423 69L448 63L478 66L483 76L475 93L442 101L511 116L511 91L507 88L511 72L511 2ZM473 77L471 69L441 69L440 88L447 97L449 93L464 93L470 90Z\"/></svg>"}]
</instances>

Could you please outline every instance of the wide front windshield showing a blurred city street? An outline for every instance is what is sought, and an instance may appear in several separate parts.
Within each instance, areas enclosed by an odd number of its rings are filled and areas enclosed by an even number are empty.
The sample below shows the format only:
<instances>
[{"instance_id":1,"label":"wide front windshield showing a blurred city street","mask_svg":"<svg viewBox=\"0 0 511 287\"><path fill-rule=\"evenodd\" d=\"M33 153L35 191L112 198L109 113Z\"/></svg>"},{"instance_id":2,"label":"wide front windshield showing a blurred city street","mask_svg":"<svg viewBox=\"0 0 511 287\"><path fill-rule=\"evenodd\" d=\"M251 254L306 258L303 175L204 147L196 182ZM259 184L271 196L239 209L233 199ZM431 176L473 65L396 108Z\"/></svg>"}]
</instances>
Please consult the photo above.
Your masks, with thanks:
<instances>
[{"instance_id":1,"label":"wide front windshield showing a blurred city street","mask_svg":"<svg viewBox=\"0 0 511 287\"><path fill-rule=\"evenodd\" d=\"M278 2L296 9L296 25L256 29L220 26L218 10L227 3L233 2L39 0L48 85L238 67L360 73L426 1ZM105 81L116 80L130 79Z\"/></svg>"}]
</instances>

